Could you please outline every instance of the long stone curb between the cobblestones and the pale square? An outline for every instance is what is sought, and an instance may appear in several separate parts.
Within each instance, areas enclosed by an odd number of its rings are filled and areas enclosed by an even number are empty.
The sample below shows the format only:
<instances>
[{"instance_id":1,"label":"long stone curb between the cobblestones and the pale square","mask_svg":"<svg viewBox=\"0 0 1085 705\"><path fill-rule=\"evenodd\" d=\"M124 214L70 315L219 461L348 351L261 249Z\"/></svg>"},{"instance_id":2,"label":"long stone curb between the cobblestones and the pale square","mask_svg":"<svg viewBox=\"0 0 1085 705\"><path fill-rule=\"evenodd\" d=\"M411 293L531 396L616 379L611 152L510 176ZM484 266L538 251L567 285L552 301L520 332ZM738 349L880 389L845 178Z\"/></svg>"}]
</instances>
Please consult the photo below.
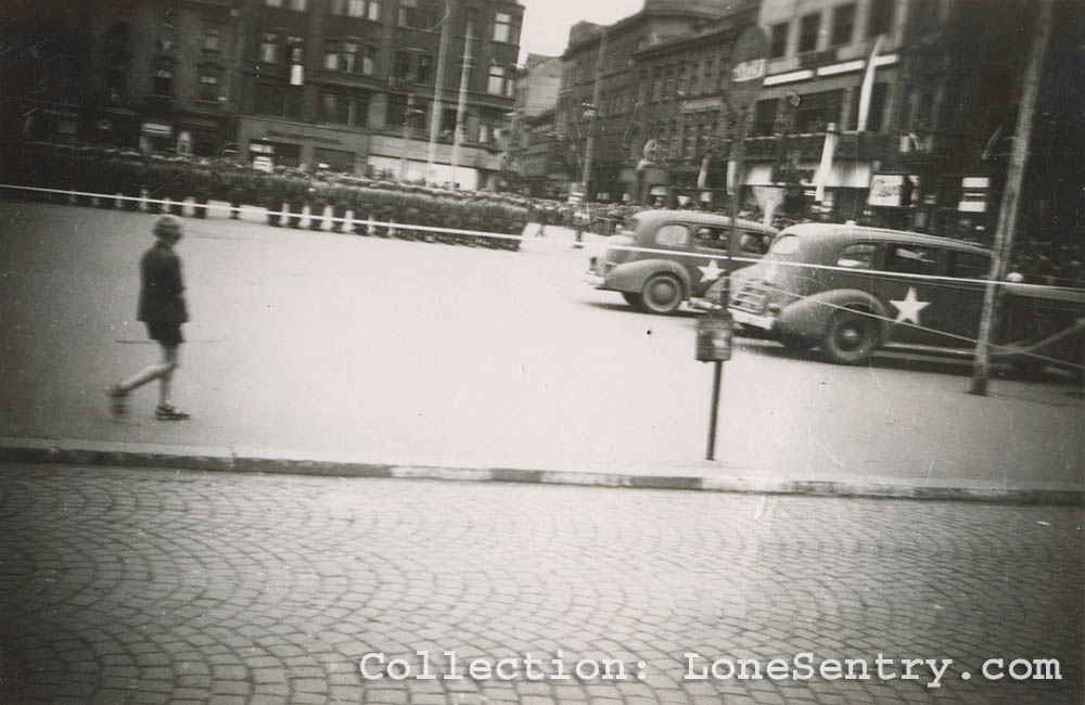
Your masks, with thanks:
<instances>
[{"instance_id":1,"label":"long stone curb between the cobblestones and the pale square","mask_svg":"<svg viewBox=\"0 0 1085 705\"><path fill-rule=\"evenodd\" d=\"M1082 488L1000 488L920 486L835 480L743 479L738 477L623 474L590 471L553 471L519 467L452 467L373 463L324 453L297 457L268 454L251 448L156 446L47 438L0 438L0 462L30 464L165 467L219 472L384 477L458 482L525 483L586 487L684 489L756 495L807 497L861 497L884 499L953 500L1021 504L1085 503Z\"/></svg>"}]
</instances>

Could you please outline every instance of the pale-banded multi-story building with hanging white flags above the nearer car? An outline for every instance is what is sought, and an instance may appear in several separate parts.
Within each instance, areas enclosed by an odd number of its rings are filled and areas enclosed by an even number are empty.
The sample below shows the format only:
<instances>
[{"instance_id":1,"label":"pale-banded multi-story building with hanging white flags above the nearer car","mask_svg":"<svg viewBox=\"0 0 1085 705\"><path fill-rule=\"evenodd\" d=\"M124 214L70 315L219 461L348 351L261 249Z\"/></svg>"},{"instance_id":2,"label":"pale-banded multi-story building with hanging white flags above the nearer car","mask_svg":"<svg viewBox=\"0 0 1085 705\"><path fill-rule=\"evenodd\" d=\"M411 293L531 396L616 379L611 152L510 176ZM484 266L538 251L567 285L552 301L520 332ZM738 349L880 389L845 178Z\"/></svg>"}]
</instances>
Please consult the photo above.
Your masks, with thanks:
<instances>
[{"instance_id":1,"label":"pale-banded multi-story building with hanging white flags above the nearer car","mask_svg":"<svg viewBox=\"0 0 1085 705\"><path fill-rule=\"evenodd\" d=\"M898 131L908 3L763 0L766 76L749 119L746 193L767 211L858 219Z\"/></svg>"}]
</instances>

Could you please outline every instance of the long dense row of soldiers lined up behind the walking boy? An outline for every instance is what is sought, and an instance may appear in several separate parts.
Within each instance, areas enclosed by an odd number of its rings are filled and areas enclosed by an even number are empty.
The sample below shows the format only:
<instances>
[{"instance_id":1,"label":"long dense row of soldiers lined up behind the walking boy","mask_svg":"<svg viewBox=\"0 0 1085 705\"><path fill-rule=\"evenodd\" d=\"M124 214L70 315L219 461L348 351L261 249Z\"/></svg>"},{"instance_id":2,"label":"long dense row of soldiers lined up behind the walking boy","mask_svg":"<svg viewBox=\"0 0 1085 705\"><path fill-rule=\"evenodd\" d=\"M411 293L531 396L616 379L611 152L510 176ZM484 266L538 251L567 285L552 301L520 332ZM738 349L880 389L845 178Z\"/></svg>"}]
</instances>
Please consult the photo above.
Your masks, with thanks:
<instances>
[{"instance_id":1,"label":"long dense row of soldiers lined up behind the walking boy","mask_svg":"<svg viewBox=\"0 0 1085 705\"><path fill-rule=\"evenodd\" d=\"M271 226L518 249L526 201L278 167L268 172L225 159L161 157L33 142L0 145L4 183L46 189L21 197L206 218L209 201L230 218L263 209ZM71 192L71 193L58 193ZM119 197L118 197L119 196ZM191 200L191 204L187 203ZM330 214L330 215L329 215ZM446 232L446 231L472 232Z\"/></svg>"}]
</instances>

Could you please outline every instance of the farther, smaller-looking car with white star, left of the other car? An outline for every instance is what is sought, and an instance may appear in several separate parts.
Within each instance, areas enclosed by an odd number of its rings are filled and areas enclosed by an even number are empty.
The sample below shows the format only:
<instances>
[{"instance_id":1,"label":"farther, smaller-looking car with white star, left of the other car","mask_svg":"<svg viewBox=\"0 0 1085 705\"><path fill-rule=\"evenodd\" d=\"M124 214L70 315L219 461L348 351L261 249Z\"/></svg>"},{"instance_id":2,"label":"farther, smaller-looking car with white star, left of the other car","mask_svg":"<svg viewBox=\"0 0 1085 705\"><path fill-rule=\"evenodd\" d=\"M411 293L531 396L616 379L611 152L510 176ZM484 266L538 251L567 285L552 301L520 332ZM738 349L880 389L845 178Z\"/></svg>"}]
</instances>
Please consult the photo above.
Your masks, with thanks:
<instances>
[{"instance_id":1,"label":"farther, smaller-looking car with white star, left of the other car","mask_svg":"<svg viewBox=\"0 0 1085 705\"><path fill-rule=\"evenodd\" d=\"M778 232L737 220L740 257L761 257ZM584 279L620 292L649 313L673 313L682 302L704 296L727 268L730 218L699 210L642 210L633 215L589 260Z\"/></svg>"}]
</instances>

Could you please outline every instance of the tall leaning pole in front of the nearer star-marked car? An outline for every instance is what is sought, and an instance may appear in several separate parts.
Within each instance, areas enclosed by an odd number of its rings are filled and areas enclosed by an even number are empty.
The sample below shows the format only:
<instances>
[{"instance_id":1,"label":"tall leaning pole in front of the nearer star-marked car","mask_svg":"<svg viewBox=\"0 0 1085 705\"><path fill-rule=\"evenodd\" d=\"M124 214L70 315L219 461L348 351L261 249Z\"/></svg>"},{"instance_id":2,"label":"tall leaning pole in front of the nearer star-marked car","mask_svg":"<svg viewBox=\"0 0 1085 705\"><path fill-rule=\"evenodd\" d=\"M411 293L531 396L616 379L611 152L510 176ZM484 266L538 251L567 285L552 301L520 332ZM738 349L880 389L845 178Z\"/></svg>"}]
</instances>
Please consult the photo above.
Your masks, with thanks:
<instances>
[{"instance_id":1,"label":"tall leaning pole in front of the nearer star-marked car","mask_svg":"<svg viewBox=\"0 0 1085 705\"><path fill-rule=\"evenodd\" d=\"M1036 13L1036 24L1033 27L1032 51L1029 53L1029 64L1024 73L1024 86L1021 89L1021 105L1018 110L1017 127L1013 130L1013 149L1010 152L1010 164L1007 168L1006 185L1003 187L1003 203L998 209L998 223L995 228L995 252L991 262L991 275L987 289L983 295L983 311L980 317L980 334L975 342L975 364L972 369L972 383L969 394L987 394L987 376L991 373L991 338L997 330L998 308L1001 302L1003 280L1006 279L1006 268L1017 234L1018 210L1021 203L1021 185L1024 182L1024 169L1029 163L1029 145L1032 142L1033 116L1036 112L1036 95L1039 93L1039 80L1044 69L1044 59L1047 56L1047 46L1051 37L1051 18L1054 16L1052 0L1039 0Z\"/></svg>"}]
</instances>

